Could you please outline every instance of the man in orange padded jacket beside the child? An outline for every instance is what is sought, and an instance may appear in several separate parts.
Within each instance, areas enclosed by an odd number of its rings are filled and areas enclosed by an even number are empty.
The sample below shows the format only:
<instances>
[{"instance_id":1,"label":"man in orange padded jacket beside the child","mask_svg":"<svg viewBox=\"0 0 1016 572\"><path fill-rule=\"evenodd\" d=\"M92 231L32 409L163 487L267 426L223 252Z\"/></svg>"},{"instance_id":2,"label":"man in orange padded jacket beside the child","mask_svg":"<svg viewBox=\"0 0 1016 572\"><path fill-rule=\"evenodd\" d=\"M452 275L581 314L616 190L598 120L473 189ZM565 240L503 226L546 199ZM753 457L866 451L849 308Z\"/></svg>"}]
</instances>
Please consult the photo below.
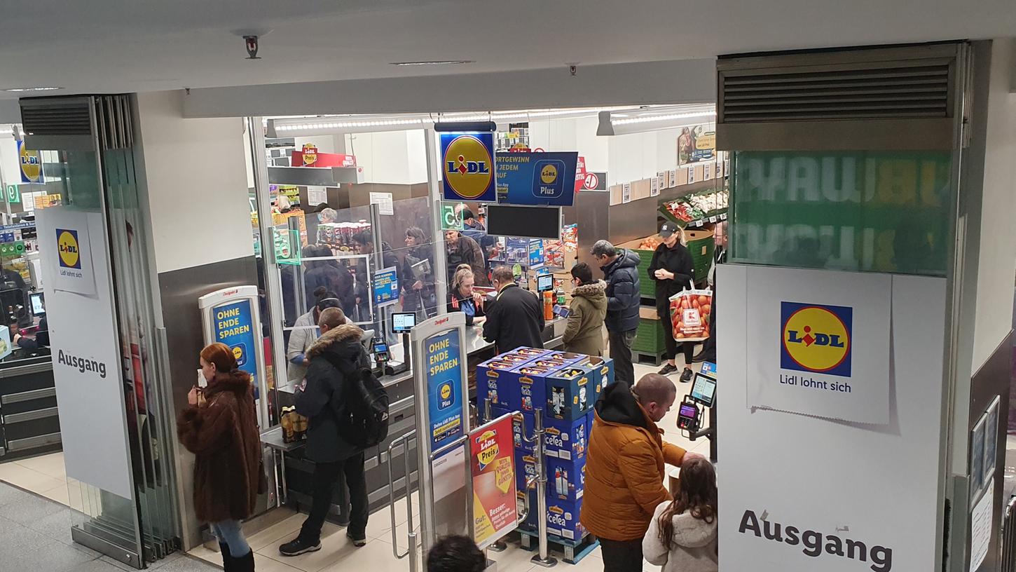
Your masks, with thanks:
<instances>
[{"instance_id":1,"label":"man in orange padded jacket beside the child","mask_svg":"<svg viewBox=\"0 0 1016 572\"><path fill-rule=\"evenodd\" d=\"M605 572L641 572L642 537L659 503L671 500L663 463L680 466L693 454L663 441L656 427L677 395L674 382L648 374L631 389L607 386L596 401L579 520L599 538Z\"/></svg>"}]
</instances>

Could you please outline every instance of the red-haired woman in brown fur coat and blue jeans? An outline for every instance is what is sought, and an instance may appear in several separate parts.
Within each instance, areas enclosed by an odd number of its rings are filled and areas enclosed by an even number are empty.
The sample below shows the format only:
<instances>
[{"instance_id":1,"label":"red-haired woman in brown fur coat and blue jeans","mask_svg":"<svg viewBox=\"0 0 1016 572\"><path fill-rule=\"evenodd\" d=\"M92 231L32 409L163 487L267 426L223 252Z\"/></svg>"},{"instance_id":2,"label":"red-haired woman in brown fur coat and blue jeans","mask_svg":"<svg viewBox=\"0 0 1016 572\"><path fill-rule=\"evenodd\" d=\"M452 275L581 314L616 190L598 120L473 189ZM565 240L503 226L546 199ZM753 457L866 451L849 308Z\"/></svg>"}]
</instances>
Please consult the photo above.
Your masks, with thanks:
<instances>
[{"instance_id":1,"label":"red-haired woman in brown fur coat and blue jeans","mask_svg":"<svg viewBox=\"0 0 1016 572\"><path fill-rule=\"evenodd\" d=\"M224 343L201 351L201 374L208 386L191 389L177 420L180 442L194 453L194 512L218 538L226 572L252 571L240 522L254 512L265 482L251 376Z\"/></svg>"}]
</instances>

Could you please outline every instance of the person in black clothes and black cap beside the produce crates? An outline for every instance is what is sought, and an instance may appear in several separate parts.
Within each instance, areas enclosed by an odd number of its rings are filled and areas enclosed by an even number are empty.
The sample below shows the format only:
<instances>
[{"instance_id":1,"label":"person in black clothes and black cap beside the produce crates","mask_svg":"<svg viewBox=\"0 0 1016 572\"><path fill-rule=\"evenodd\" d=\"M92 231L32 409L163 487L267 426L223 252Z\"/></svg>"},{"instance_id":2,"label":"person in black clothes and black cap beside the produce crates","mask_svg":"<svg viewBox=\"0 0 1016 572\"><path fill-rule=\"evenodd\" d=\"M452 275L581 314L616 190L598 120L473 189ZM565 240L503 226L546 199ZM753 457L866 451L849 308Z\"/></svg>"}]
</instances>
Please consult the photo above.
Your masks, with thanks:
<instances>
[{"instance_id":1,"label":"person in black clothes and black cap beside the produce crates","mask_svg":"<svg viewBox=\"0 0 1016 572\"><path fill-rule=\"evenodd\" d=\"M656 247L649 262L649 278L656 282L656 314L663 322L663 342L666 345L666 364L659 370L659 375L669 375L678 371L678 342L674 339L674 328L671 327L671 297L683 290L692 288L695 269L692 264L692 253L688 247L681 244L681 229L674 223L663 223L659 228L659 238L663 242ZM681 346L684 353L684 372L681 382L692 380L692 358L695 353L694 341L684 341Z\"/></svg>"}]
</instances>

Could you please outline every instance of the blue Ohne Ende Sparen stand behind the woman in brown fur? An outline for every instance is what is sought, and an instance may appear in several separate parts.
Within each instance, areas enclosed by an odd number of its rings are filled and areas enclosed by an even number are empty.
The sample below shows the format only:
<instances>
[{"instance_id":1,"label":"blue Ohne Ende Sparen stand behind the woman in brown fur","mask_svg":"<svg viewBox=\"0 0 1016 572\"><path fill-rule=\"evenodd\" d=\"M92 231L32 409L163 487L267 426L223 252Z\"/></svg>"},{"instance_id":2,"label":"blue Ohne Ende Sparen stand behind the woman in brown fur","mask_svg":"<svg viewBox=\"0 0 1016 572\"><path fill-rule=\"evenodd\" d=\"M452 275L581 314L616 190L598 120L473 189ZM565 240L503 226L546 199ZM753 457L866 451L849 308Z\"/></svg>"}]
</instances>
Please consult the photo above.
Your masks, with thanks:
<instances>
[{"instance_id":1,"label":"blue Ohne Ende Sparen stand behind the woman in brown fur","mask_svg":"<svg viewBox=\"0 0 1016 572\"><path fill-rule=\"evenodd\" d=\"M230 346L241 370L251 374L255 397L267 395L264 345L257 287L242 285L206 294L197 299L204 342ZM258 423L268 427L268 400L257 399Z\"/></svg>"}]
</instances>

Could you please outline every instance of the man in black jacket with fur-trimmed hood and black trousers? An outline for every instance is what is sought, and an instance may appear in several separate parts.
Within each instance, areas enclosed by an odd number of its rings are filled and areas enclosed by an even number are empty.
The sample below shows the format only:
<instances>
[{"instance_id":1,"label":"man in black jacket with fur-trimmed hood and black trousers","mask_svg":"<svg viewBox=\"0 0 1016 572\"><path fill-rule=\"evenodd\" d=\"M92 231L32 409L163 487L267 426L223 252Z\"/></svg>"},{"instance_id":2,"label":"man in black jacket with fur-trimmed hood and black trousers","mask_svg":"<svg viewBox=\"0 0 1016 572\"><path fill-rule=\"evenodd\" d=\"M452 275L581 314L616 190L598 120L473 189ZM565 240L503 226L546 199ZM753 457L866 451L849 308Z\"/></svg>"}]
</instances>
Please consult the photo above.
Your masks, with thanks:
<instances>
[{"instance_id":1,"label":"man in black jacket with fur-trimmed hood and black trousers","mask_svg":"<svg viewBox=\"0 0 1016 572\"><path fill-rule=\"evenodd\" d=\"M324 525L335 481L344 473L350 489L350 524L345 535L356 547L367 544L367 480L364 449L343 435L340 419L347 417L347 396L353 372L370 368L360 342L364 330L345 323L338 308L327 308L318 320L321 337L307 351L310 366L303 390L296 393L297 412L308 418L305 455L314 461L314 500L300 534L278 547L282 556L321 550Z\"/></svg>"}]
</instances>

